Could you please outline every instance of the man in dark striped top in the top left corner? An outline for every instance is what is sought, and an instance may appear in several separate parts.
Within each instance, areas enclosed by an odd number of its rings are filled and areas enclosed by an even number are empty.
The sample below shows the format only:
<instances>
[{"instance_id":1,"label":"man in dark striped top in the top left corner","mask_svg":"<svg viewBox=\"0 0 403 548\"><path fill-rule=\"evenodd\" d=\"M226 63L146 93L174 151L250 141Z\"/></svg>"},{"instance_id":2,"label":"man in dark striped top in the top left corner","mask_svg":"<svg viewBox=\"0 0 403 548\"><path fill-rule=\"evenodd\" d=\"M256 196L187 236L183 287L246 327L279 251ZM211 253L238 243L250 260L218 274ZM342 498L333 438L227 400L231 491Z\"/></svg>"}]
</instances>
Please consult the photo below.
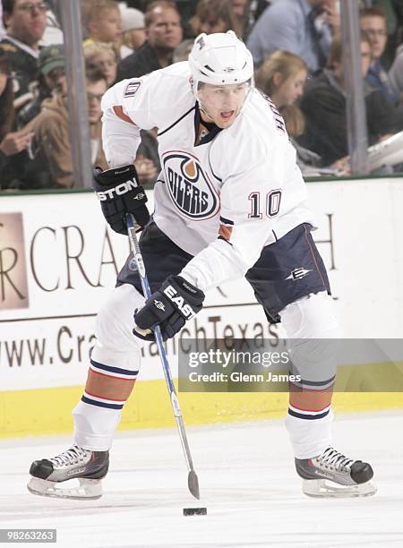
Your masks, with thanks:
<instances>
[{"instance_id":1,"label":"man in dark striped top in the top left corner","mask_svg":"<svg viewBox=\"0 0 403 548\"><path fill-rule=\"evenodd\" d=\"M38 78L39 41L47 25L47 3L42 0L2 0L7 30L0 42L10 60L14 79L14 107L22 107L33 96L30 84Z\"/></svg>"}]
</instances>

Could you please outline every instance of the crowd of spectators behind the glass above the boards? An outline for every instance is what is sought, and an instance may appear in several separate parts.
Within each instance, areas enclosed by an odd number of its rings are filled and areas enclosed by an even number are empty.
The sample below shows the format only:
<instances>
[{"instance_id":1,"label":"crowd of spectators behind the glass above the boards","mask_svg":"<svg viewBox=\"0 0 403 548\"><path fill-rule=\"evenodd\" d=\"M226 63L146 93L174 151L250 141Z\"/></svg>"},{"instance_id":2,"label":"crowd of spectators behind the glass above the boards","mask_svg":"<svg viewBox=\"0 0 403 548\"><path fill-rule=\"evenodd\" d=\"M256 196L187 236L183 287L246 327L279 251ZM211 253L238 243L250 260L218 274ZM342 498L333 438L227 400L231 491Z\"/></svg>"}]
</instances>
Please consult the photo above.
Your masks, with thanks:
<instances>
[{"instance_id":1,"label":"crowd of spectators behind the glass above the boards","mask_svg":"<svg viewBox=\"0 0 403 548\"><path fill-rule=\"evenodd\" d=\"M360 1L368 140L403 131L403 0ZM2 0L0 188L74 186L58 0ZM107 168L100 99L116 81L187 59L201 32L235 30L256 87L285 119L304 174L348 173L338 0L81 0L91 163ZM141 132L142 184L159 173L157 128ZM399 169L399 167L395 167Z\"/></svg>"}]
</instances>

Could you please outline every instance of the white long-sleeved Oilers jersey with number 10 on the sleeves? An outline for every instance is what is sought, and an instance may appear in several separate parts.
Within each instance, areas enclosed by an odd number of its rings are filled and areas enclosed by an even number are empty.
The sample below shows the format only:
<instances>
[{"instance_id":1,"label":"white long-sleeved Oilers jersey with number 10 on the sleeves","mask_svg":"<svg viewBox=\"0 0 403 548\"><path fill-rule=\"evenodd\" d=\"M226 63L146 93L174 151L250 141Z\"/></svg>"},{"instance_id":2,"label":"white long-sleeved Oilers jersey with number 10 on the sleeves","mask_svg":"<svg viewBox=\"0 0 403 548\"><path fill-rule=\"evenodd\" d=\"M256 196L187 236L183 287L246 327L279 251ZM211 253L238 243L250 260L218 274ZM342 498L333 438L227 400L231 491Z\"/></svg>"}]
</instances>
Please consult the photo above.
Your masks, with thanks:
<instances>
[{"instance_id":1,"label":"white long-sleeved Oilers jersey with number 10 on the sleeves","mask_svg":"<svg viewBox=\"0 0 403 548\"><path fill-rule=\"evenodd\" d=\"M103 140L110 166L120 167L133 163L138 128L158 128L154 220L195 256L182 274L204 290L243 276L264 245L314 221L296 151L270 99L253 90L234 124L196 144L200 114L189 78L184 62L116 83L102 100Z\"/></svg>"}]
</instances>

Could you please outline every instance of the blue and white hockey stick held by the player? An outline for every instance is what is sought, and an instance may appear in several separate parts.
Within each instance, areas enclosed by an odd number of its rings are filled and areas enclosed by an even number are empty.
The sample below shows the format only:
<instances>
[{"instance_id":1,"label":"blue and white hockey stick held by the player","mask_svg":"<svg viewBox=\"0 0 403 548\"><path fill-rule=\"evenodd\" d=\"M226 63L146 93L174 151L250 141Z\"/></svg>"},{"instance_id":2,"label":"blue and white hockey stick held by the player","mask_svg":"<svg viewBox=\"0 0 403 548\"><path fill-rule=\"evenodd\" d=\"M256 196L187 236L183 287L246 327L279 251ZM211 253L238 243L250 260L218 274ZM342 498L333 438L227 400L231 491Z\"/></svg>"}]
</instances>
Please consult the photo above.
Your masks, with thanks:
<instances>
[{"instance_id":1,"label":"blue and white hockey stick held by the player","mask_svg":"<svg viewBox=\"0 0 403 548\"><path fill-rule=\"evenodd\" d=\"M133 226L133 216L130 213L126 214L126 227L127 227L127 234L129 235L130 246L133 252L133 257L136 261L137 269L139 270L142 291L144 293L145 298L148 299L151 295L150 284L145 271L144 261L142 260L136 231ZM169 369L167 354L165 352L165 347L162 340L162 335L161 335L161 330L159 329L159 325L156 325L153 328L153 330L154 330L155 340L159 348L159 357L161 358L161 364L164 370L165 380L167 381L167 390L169 392L169 397L171 399L172 410L174 411L174 415L176 418L176 425L179 432L179 437L181 439L182 448L184 450L184 459L186 461L187 469L189 470L189 475L187 477L187 485L189 487L189 491L193 494L193 497L195 497L196 499L200 499L199 480L193 468L192 455L189 449L189 443L187 441L186 431L184 430L184 419L182 418L182 411L179 406L179 400L176 396L174 382L172 381L172 375Z\"/></svg>"}]
</instances>

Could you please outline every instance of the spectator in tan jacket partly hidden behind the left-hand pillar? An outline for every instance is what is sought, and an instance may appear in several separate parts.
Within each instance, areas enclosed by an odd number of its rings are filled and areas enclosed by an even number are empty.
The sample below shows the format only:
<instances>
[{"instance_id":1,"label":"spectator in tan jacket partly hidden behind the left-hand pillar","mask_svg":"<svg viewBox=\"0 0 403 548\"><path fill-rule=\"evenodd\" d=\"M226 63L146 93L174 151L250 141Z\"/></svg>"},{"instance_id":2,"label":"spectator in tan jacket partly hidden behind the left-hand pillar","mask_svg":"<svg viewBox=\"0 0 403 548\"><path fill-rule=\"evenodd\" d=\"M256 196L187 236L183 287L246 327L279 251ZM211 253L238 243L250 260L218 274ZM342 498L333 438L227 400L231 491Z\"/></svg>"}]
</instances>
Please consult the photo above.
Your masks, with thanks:
<instances>
[{"instance_id":1,"label":"spectator in tan jacket partly hidden behind the left-hand pillar","mask_svg":"<svg viewBox=\"0 0 403 548\"><path fill-rule=\"evenodd\" d=\"M97 69L86 73L86 90L88 99L88 121L90 124L91 163L107 169L101 146L101 108L100 101L107 90L107 81ZM74 186L72 150L69 137L67 87L53 98L45 99L42 110L28 128L34 132L32 151L35 161L45 164L50 173L52 187L71 188Z\"/></svg>"}]
</instances>

